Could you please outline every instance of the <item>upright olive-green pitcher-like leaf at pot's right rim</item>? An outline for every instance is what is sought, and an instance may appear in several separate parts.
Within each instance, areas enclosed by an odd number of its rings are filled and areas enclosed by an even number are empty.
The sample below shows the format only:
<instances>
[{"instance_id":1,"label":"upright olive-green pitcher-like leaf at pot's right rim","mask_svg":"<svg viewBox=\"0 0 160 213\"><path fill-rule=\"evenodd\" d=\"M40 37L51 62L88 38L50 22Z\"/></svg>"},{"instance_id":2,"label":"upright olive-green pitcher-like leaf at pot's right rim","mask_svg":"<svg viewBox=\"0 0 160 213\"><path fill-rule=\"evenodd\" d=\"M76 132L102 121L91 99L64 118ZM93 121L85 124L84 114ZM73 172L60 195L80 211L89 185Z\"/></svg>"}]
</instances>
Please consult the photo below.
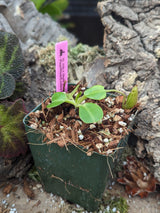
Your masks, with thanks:
<instances>
[{"instance_id":1,"label":"upright olive-green pitcher-like leaf at pot's right rim","mask_svg":"<svg viewBox=\"0 0 160 213\"><path fill-rule=\"evenodd\" d=\"M124 109L131 109L138 101L138 87L134 86L127 97L126 103L122 104Z\"/></svg>"}]
</instances>

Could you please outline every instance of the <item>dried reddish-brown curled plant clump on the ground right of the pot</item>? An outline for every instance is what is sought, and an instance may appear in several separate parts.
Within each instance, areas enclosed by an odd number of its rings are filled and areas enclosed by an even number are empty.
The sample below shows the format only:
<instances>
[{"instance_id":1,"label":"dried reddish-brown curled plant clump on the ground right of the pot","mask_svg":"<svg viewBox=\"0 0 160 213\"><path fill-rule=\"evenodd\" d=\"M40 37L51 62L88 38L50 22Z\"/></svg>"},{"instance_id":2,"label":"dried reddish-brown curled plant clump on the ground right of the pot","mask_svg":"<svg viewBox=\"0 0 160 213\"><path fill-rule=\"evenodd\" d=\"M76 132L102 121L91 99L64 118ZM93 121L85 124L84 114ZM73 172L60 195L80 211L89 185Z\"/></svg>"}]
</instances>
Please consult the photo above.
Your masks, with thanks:
<instances>
[{"instance_id":1,"label":"dried reddish-brown curled plant clump on the ground right of the pot","mask_svg":"<svg viewBox=\"0 0 160 213\"><path fill-rule=\"evenodd\" d=\"M141 198L147 197L150 192L155 192L156 184L160 184L144 163L134 157L127 157L124 171L119 172L117 181L125 185L126 193Z\"/></svg>"}]
</instances>

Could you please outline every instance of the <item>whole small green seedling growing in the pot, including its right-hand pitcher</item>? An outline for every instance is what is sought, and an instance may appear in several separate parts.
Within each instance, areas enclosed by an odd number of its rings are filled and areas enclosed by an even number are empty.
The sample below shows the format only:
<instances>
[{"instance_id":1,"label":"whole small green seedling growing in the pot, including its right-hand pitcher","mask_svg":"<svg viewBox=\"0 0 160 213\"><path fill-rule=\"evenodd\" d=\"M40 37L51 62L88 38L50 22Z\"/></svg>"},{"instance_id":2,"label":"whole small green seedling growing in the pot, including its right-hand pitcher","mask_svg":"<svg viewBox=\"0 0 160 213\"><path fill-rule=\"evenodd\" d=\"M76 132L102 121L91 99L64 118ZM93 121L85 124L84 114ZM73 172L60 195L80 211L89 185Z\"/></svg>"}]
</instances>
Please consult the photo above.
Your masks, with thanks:
<instances>
[{"instance_id":1,"label":"whole small green seedling growing in the pot, including its right-hand pitcher","mask_svg":"<svg viewBox=\"0 0 160 213\"><path fill-rule=\"evenodd\" d=\"M86 89L84 94L82 92L77 92L80 85L77 85L71 93L56 92L52 96L52 103L47 105L47 108L57 107L63 103L69 103L79 108L79 117L84 123L96 123L103 118L102 108L95 103L87 103L86 99L102 100L106 97L109 92L120 93L124 96L123 98L123 108L132 108L137 103L138 89L137 86L133 87L132 91L127 97L120 91L111 89L106 90L101 85L95 85L89 89Z\"/></svg>"}]
</instances>

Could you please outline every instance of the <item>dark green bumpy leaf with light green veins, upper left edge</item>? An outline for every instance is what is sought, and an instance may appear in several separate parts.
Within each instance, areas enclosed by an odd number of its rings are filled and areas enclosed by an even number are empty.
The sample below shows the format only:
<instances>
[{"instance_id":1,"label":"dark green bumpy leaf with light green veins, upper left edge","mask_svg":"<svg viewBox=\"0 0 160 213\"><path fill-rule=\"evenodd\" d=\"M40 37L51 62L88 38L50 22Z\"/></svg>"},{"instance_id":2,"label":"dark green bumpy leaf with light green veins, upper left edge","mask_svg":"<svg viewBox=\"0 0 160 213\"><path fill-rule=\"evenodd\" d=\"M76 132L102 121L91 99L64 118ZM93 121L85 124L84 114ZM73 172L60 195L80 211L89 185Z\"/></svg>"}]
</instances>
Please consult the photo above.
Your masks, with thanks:
<instances>
[{"instance_id":1,"label":"dark green bumpy leaf with light green veins, upper left edge","mask_svg":"<svg viewBox=\"0 0 160 213\"><path fill-rule=\"evenodd\" d=\"M15 80L24 71L24 61L17 37L0 32L0 99L10 97Z\"/></svg>"}]
</instances>

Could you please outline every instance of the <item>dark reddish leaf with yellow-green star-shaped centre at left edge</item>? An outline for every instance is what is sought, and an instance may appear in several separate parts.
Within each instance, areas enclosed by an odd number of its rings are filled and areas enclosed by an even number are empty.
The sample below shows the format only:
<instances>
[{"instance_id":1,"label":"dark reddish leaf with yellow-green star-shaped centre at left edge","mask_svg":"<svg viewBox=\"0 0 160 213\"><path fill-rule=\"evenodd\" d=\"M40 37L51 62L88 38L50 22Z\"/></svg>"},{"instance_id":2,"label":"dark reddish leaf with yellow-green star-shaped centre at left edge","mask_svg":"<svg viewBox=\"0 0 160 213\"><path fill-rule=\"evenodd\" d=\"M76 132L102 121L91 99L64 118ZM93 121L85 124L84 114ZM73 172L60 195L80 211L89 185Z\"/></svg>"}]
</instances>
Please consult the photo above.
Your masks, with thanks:
<instances>
[{"instance_id":1,"label":"dark reddish leaf with yellow-green star-shaped centre at left edge","mask_svg":"<svg viewBox=\"0 0 160 213\"><path fill-rule=\"evenodd\" d=\"M12 104L0 104L0 157L12 158L26 153L28 146L22 122L24 115L22 99Z\"/></svg>"}]
</instances>

